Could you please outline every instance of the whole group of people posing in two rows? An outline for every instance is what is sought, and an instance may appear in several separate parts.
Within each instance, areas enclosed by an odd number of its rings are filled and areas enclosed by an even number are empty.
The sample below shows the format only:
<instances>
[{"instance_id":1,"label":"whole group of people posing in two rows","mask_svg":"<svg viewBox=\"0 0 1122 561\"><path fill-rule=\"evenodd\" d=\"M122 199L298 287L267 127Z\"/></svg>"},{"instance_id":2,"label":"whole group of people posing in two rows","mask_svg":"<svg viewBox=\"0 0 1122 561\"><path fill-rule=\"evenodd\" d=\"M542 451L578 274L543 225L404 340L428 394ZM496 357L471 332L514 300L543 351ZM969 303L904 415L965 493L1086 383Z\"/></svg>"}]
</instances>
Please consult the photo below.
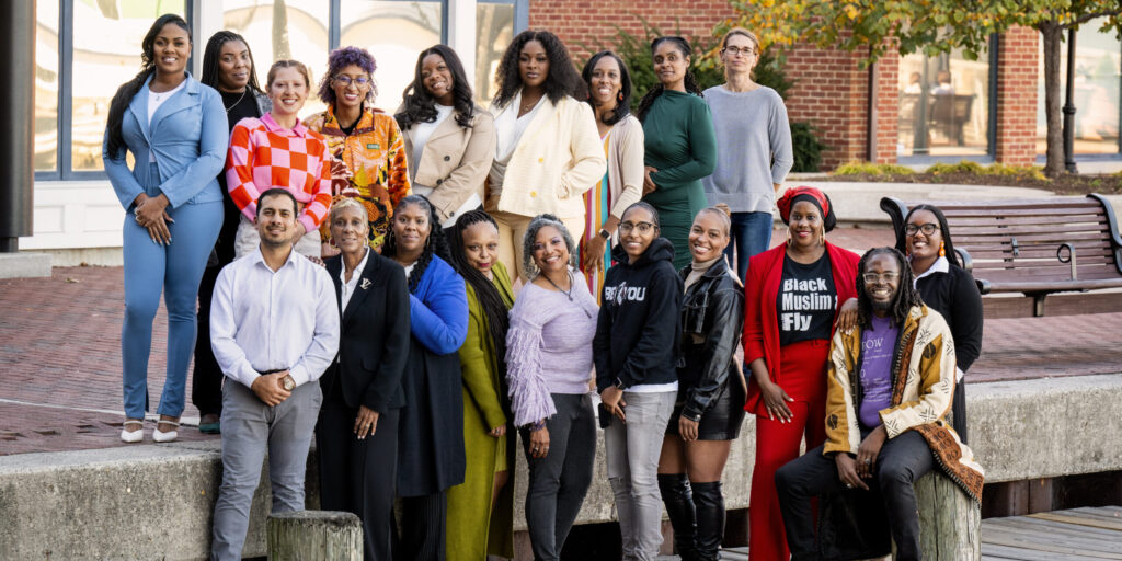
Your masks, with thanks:
<instances>
[{"instance_id":1,"label":"whole group of people posing in two rows","mask_svg":"<svg viewBox=\"0 0 1122 561\"><path fill-rule=\"evenodd\" d=\"M435 45L386 113L375 58L343 47L304 119L300 62L261 89L220 31L195 80L171 15L142 45L103 150L127 211L121 440L144 440L163 294L151 438L177 438L193 352L200 430L222 438L214 559L240 559L266 454L273 511L304 507L313 434L322 506L360 516L367 559L513 557L518 442L534 557L559 559L597 424L628 560L657 553L663 506L683 559L719 557L745 412L754 559L817 559L810 497L871 486L918 559L910 482L931 452L977 496L958 383L981 300L946 220L917 208L895 249L858 258L826 241L825 194L776 200L790 128L752 81L752 33L724 37L727 82L705 92L689 43L655 39L636 114L619 56L578 73L543 30L513 39L489 109ZM769 250L773 205L789 239Z\"/></svg>"}]
</instances>

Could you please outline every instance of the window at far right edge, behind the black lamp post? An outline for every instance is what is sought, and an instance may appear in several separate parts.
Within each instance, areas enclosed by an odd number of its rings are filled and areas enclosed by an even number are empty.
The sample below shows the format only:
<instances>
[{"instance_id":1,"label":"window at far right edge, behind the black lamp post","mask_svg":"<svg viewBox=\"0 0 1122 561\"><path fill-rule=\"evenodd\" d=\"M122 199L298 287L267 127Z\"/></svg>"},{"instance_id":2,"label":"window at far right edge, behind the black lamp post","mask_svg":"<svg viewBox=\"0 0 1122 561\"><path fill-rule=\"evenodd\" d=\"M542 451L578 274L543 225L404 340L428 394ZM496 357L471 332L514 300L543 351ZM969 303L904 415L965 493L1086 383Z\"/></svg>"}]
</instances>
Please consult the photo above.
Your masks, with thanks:
<instances>
[{"instance_id":1,"label":"window at far right edge, behind the black lamp post","mask_svg":"<svg viewBox=\"0 0 1122 561\"><path fill-rule=\"evenodd\" d=\"M1119 91L1122 89L1122 42L1114 33L1100 33L1106 18L1079 26L1075 34L1075 146L1076 155L1114 155L1119 144ZM1065 39L1067 35L1064 36ZM1040 42L1040 74L1037 80L1037 154L1047 148L1045 116L1045 59ZM1067 103L1067 43L1060 55L1060 108ZM1061 117L1063 119L1063 117Z\"/></svg>"}]
</instances>

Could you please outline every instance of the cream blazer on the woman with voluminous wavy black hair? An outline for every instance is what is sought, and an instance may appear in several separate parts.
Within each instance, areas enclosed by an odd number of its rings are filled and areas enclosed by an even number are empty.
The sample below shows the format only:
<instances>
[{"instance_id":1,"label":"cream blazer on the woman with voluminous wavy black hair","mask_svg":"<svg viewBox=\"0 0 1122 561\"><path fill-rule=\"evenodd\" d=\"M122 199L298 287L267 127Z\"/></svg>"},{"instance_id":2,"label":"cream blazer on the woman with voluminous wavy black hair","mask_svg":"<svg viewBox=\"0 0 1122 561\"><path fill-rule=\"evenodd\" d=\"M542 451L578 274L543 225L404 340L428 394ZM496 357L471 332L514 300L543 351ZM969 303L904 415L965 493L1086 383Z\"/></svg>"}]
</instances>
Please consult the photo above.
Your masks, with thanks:
<instances>
[{"instance_id":1,"label":"cream blazer on the woman with voluminous wavy black hair","mask_svg":"<svg viewBox=\"0 0 1122 561\"><path fill-rule=\"evenodd\" d=\"M496 119L517 110L513 103L491 105ZM587 103L569 95L557 104L543 100L511 155L498 200L488 193L487 208L523 217L549 212L562 219L583 218L580 195L604 177L607 166L595 119Z\"/></svg>"}]
</instances>

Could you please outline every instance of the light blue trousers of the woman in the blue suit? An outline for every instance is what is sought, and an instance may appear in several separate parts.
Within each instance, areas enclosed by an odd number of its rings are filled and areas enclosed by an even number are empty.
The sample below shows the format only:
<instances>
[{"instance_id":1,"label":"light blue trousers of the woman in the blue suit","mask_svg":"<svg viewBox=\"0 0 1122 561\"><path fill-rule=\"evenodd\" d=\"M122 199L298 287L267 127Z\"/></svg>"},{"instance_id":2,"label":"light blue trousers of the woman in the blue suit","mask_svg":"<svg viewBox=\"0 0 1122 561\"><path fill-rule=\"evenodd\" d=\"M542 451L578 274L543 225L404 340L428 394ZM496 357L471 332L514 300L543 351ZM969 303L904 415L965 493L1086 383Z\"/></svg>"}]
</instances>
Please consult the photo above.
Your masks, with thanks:
<instances>
[{"instance_id":1,"label":"light blue trousers of the woman in the blue suit","mask_svg":"<svg viewBox=\"0 0 1122 561\"><path fill-rule=\"evenodd\" d=\"M153 187L148 191L158 194ZM130 419L144 419L148 411L148 355L160 294L167 306L167 378L157 411L173 417L183 413L187 366L195 347L199 280L222 227L221 201L187 203L167 213L175 220L168 223L172 242L167 246L151 241L131 212L125 217L121 356L125 415Z\"/></svg>"}]
</instances>

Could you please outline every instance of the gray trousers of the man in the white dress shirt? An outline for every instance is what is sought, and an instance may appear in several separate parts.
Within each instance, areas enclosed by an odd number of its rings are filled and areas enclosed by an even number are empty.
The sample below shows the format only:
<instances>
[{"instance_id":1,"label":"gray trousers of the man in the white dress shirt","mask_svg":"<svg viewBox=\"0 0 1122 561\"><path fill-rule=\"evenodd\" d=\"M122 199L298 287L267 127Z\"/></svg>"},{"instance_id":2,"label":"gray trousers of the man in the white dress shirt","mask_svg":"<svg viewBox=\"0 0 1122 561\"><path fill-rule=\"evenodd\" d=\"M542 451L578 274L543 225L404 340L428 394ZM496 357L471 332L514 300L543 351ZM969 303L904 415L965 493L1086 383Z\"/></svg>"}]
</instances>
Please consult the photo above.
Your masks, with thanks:
<instances>
[{"instance_id":1,"label":"gray trousers of the man in the white dress shirt","mask_svg":"<svg viewBox=\"0 0 1122 561\"><path fill-rule=\"evenodd\" d=\"M240 560L249 506L269 459L273 513L304 509L304 470L320 414L320 383L304 384L269 407L241 383L222 386L222 485L214 504L211 559Z\"/></svg>"}]
</instances>

